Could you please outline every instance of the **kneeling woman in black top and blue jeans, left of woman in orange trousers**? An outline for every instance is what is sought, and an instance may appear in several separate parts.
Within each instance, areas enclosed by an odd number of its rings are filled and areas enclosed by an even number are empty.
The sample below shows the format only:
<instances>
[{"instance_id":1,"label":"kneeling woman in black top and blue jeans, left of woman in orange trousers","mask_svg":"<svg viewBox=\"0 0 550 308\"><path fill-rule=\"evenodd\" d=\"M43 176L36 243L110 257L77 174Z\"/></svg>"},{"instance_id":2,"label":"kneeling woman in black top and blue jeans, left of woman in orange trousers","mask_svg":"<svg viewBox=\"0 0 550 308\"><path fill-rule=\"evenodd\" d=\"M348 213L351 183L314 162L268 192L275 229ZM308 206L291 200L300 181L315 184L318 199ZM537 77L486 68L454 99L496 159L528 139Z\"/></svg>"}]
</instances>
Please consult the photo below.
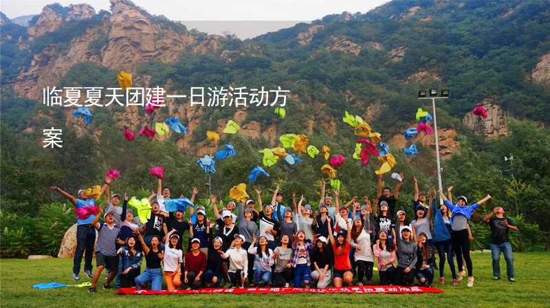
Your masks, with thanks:
<instances>
[{"instance_id":1,"label":"kneeling woman in black top and blue jeans, left of woman in orange trousers","mask_svg":"<svg viewBox=\"0 0 550 308\"><path fill-rule=\"evenodd\" d=\"M159 247L159 237L156 235L151 236L151 243L147 245L140 230L135 230L135 233L142 245L147 265L145 271L140 276L135 277L135 287L143 289L147 283L151 283L151 291L160 291L162 290L162 269L160 268L160 263L164 259L164 254Z\"/></svg>"}]
</instances>

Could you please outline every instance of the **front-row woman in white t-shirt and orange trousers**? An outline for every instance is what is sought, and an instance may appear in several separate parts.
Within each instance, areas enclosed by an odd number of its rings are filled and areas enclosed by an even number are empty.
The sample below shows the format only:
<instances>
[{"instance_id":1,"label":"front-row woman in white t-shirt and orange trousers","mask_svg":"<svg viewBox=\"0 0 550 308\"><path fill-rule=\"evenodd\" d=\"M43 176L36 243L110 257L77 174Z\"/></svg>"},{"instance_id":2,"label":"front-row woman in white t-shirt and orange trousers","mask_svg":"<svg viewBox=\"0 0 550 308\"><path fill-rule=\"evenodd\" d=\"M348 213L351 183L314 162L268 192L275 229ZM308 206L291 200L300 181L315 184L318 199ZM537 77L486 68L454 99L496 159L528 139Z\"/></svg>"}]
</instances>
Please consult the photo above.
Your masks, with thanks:
<instances>
[{"instance_id":1,"label":"front-row woman in white t-shirt and orange trousers","mask_svg":"<svg viewBox=\"0 0 550 308\"><path fill-rule=\"evenodd\" d=\"M179 248L179 235L175 229L166 234L164 243L164 281L168 291L173 291L181 286L181 264L184 263L184 252Z\"/></svg>"}]
</instances>

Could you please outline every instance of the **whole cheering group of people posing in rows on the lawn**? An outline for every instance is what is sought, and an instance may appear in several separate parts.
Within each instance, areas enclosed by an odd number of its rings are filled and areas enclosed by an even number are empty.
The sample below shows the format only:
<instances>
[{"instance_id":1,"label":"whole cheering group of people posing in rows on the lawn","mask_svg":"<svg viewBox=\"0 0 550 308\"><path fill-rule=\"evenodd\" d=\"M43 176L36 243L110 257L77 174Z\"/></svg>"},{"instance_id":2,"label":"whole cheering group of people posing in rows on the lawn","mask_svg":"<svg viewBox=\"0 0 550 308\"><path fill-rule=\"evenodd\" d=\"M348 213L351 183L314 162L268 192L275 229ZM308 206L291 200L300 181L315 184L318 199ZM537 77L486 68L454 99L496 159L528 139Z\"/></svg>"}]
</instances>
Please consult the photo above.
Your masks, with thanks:
<instances>
[{"instance_id":1,"label":"whole cheering group of people posing in rows on the lawn","mask_svg":"<svg viewBox=\"0 0 550 308\"><path fill-rule=\"evenodd\" d=\"M219 287L224 282L231 287L325 288L331 283L334 287L352 285L354 277L356 285L373 285L376 261L380 285L412 285L416 279L419 285L431 286L438 269L434 252L437 249L439 283L445 283L446 260L452 284L458 285L465 277L465 264L467 286L472 287L472 235L468 221L476 208L491 197L487 195L468 205L467 198L459 196L453 203L450 187L447 196L440 192L444 201L440 205L435 190L432 188L428 194L419 192L413 177L415 219L409 221L404 210L396 212L402 179L401 174L392 192L383 187L379 176L377 198L364 197L363 204L357 197L341 204L339 192L334 190L333 197L329 197L323 182L315 211L305 203L303 195L296 201L294 192L292 206L285 205L278 186L267 204L257 188L255 200L237 203L223 204L211 195L213 219L207 215L208 206L167 212L164 203L172 193L158 179L157 192L148 198L151 217L142 223L128 207L127 193L123 198L111 195L111 179L105 177L100 196L105 195L107 206L100 206L98 214L78 217L73 278L80 278L84 256L84 272L91 278L89 292L96 292L103 270L108 273L104 289L111 288L113 280L115 287L148 286L151 290L161 290L163 281L168 290ZM96 206L96 199L87 197L84 190L74 197L56 186L51 189L77 209ZM197 188L193 188L191 203L195 203L197 193ZM517 228L499 206L484 220L492 230L494 279L500 279L499 258L503 252L509 281L515 281L508 230ZM92 273L94 245L96 271Z\"/></svg>"}]
</instances>

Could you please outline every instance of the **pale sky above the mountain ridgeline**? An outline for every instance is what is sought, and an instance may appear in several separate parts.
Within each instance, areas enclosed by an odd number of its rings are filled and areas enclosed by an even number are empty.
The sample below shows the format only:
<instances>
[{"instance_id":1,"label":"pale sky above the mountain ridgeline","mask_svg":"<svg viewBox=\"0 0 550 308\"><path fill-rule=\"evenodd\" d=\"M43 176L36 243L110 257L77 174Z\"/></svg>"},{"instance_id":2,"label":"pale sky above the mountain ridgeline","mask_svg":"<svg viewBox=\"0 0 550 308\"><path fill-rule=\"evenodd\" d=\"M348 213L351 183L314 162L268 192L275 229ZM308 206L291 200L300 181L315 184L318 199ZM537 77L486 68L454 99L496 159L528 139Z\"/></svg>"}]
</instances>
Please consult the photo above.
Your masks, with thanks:
<instances>
[{"instance_id":1,"label":"pale sky above the mountain ridgeline","mask_svg":"<svg viewBox=\"0 0 550 308\"><path fill-rule=\"evenodd\" d=\"M88 3L96 11L109 10L109 0L0 0L0 10L9 18L40 14L51 3ZM368 12L388 0L133 0L151 14L181 21L187 28L209 34L236 34L249 39L289 28L299 22L347 11ZM215 22L212 22L215 21Z\"/></svg>"}]
</instances>

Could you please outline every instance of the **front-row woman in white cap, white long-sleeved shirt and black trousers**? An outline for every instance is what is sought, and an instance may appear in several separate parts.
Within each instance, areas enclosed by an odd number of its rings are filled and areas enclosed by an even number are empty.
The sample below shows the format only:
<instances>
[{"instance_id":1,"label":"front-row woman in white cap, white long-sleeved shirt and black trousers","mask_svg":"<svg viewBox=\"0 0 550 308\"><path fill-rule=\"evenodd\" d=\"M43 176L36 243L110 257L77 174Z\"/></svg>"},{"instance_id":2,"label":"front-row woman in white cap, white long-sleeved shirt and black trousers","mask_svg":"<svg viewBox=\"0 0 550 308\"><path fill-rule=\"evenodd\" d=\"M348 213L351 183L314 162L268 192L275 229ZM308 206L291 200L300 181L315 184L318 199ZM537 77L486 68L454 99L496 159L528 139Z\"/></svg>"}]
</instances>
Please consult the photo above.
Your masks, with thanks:
<instances>
[{"instance_id":1,"label":"front-row woman in white cap, white long-sleeved shirt and black trousers","mask_svg":"<svg viewBox=\"0 0 550 308\"><path fill-rule=\"evenodd\" d=\"M248 252L242 247L244 241L245 236L235 234L229 250L221 255L223 259L229 258L228 272L232 287L244 287L248 277Z\"/></svg>"}]
</instances>

